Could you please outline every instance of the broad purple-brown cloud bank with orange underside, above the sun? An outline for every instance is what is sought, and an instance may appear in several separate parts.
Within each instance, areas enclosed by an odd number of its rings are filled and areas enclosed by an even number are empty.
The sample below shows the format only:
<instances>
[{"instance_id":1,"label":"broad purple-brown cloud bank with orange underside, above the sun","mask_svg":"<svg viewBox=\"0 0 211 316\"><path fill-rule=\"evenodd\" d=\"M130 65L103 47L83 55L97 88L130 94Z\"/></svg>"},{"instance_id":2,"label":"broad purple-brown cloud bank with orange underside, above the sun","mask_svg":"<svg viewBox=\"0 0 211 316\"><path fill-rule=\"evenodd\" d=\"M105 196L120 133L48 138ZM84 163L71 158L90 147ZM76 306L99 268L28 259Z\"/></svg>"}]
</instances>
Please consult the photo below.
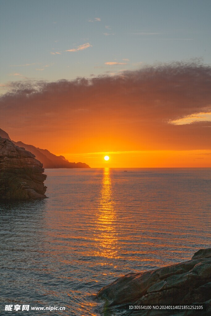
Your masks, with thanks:
<instances>
[{"instance_id":1,"label":"broad purple-brown cloud bank with orange underside, above the sun","mask_svg":"<svg viewBox=\"0 0 211 316\"><path fill-rule=\"evenodd\" d=\"M207 149L209 122L169 124L199 112L211 112L211 67L175 62L116 76L13 82L0 98L0 127L80 138L106 137L105 126L108 137L131 138L133 149Z\"/></svg>"}]
</instances>

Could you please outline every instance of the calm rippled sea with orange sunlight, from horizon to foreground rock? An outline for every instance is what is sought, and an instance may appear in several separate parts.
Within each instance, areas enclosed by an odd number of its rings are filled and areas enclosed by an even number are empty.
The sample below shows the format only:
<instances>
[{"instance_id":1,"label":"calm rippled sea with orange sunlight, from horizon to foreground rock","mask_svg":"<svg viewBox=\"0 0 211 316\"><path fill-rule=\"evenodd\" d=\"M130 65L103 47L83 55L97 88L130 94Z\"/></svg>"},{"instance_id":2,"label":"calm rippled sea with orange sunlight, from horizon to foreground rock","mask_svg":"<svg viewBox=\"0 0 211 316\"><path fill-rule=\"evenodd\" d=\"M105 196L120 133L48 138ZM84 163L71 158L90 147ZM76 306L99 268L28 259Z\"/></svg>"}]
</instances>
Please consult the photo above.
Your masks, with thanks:
<instances>
[{"instance_id":1,"label":"calm rippled sea with orange sunlight, from horizon to foreground rock","mask_svg":"<svg viewBox=\"0 0 211 316\"><path fill-rule=\"evenodd\" d=\"M93 301L103 286L210 246L211 169L45 173L48 199L0 204L2 310L19 303L66 307L33 315L104 315Z\"/></svg>"}]
</instances>

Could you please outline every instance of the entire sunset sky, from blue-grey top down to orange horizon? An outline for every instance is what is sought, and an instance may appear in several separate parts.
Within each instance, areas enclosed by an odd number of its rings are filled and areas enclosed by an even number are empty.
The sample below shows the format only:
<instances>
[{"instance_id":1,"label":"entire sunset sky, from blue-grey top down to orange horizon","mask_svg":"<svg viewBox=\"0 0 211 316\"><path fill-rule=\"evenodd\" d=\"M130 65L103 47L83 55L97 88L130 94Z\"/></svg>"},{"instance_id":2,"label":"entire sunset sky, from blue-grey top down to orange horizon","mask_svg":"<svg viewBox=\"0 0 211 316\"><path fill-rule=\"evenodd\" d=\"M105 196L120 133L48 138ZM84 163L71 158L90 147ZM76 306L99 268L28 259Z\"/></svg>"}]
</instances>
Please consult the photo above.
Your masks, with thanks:
<instances>
[{"instance_id":1,"label":"entire sunset sky, from blue-grey top down to orange horizon","mask_svg":"<svg viewBox=\"0 0 211 316\"><path fill-rule=\"evenodd\" d=\"M210 12L0 1L0 128L91 167L211 167Z\"/></svg>"}]
</instances>

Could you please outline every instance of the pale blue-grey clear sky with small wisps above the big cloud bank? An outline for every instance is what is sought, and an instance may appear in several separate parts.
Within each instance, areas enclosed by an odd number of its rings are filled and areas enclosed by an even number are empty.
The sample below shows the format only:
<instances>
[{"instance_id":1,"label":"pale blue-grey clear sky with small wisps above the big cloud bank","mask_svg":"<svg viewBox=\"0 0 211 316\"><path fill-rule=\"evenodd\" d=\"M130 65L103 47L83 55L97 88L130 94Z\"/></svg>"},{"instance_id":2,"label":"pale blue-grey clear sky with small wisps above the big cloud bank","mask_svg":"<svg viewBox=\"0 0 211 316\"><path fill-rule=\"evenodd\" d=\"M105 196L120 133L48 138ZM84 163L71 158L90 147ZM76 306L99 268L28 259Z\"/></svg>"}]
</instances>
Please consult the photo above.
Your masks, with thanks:
<instances>
[{"instance_id":1,"label":"pale blue-grey clear sky with small wisps above the big cloud bank","mask_svg":"<svg viewBox=\"0 0 211 316\"><path fill-rule=\"evenodd\" d=\"M2 86L190 58L211 63L206 0L7 0L0 12Z\"/></svg>"}]
</instances>

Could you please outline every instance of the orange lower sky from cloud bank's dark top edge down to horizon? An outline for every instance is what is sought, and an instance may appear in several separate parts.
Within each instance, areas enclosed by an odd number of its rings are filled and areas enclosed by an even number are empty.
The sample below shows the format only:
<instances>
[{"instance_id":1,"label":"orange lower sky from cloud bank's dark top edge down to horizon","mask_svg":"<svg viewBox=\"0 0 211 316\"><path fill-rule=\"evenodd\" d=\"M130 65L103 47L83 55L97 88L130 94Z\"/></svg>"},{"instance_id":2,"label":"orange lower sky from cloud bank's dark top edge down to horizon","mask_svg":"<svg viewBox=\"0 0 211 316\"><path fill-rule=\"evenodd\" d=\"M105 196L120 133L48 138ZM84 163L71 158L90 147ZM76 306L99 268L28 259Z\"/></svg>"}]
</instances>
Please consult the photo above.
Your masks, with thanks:
<instances>
[{"instance_id":1,"label":"orange lower sky from cloud bank's dark top edge down to horizon","mask_svg":"<svg viewBox=\"0 0 211 316\"><path fill-rule=\"evenodd\" d=\"M0 128L91 167L211 167L210 73L173 63L90 80L11 83L0 98Z\"/></svg>"}]
</instances>

